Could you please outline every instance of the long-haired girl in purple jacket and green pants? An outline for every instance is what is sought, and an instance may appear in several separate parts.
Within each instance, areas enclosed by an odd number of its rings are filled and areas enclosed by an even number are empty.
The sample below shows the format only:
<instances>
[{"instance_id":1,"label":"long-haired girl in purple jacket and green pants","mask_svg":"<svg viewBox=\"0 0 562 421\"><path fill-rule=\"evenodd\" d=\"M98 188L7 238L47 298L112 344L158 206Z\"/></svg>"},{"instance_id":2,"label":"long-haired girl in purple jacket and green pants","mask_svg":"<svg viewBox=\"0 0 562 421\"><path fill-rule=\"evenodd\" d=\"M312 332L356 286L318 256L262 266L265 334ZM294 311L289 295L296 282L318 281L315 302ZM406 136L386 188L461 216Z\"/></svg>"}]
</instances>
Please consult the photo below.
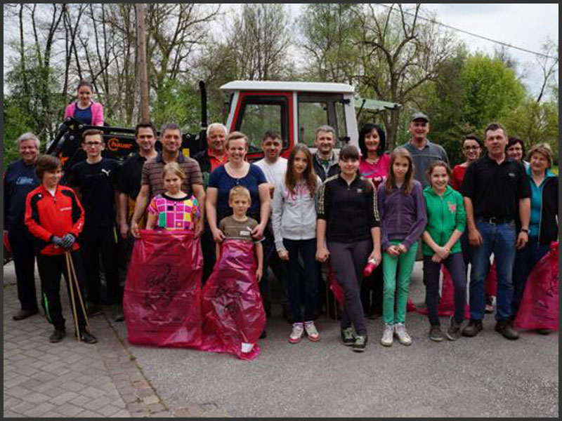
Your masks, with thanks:
<instances>
[{"instance_id":1,"label":"long-haired girl in purple jacket and green pants","mask_svg":"<svg viewBox=\"0 0 562 421\"><path fill-rule=\"evenodd\" d=\"M410 345L412 338L405 326L408 286L416 260L417 240L426 226L426 208L421 184L414 180L414 164L407 149L400 147L392 152L388 178L379 185L378 202L381 246L384 250L384 329L381 344L390 347L394 334L401 344ZM395 318L394 295L398 264L400 271Z\"/></svg>"}]
</instances>

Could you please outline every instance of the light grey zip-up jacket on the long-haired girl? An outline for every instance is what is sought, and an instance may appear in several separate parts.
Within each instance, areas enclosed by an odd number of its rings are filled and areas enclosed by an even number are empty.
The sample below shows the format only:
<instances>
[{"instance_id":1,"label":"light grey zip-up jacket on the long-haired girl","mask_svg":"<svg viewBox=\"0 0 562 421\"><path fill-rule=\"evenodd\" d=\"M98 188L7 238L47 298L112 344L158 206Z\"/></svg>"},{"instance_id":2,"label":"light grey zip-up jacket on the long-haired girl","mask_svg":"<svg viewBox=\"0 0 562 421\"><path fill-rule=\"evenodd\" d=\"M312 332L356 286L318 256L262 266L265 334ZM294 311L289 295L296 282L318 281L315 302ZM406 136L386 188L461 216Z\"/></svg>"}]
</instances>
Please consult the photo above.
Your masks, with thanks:
<instances>
[{"instance_id":1,"label":"light grey zip-up jacket on the long-haired girl","mask_svg":"<svg viewBox=\"0 0 562 421\"><path fill-rule=\"evenodd\" d=\"M273 192L271 223L275 249L286 250L283 239L310 240L316 238L316 208L322 180L317 177L316 191L311 196L304 183L297 183L291 193L285 181L277 183Z\"/></svg>"}]
</instances>

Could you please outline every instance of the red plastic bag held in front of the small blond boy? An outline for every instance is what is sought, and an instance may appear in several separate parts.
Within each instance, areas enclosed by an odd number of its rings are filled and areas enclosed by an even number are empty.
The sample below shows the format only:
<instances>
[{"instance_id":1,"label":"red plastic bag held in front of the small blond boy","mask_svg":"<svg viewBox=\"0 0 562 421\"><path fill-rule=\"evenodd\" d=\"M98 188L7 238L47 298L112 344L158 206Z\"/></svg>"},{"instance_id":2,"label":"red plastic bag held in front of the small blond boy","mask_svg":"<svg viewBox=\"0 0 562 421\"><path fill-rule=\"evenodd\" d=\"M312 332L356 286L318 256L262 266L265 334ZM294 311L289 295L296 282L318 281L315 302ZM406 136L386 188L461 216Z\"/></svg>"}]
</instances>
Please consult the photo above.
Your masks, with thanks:
<instances>
[{"instance_id":1,"label":"red plastic bag held in front of the small blond boy","mask_svg":"<svg viewBox=\"0 0 562 421\"><path fill-rule=\"evenodd\" d=\"M259 355L259 335L266 326L258 282L254 244L226 240L221 258L202 291L203 342L200 349L228 352L240 359ZM254 344L242 352L242 342Z\"/></svg>"}]
</instances>

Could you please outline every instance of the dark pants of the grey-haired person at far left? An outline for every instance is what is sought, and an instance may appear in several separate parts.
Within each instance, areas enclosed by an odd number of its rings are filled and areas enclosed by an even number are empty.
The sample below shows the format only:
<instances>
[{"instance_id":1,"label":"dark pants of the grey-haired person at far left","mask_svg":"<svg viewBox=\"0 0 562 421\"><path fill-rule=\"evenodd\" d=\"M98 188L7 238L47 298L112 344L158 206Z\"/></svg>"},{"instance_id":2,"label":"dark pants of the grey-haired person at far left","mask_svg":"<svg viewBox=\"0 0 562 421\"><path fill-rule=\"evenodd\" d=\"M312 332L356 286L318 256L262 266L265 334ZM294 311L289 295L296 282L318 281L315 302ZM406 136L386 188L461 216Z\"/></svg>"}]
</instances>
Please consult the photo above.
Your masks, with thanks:
<instances>
[{"instance_id":1,"label":"dark pants of the grey-haired person at far left","mask_svg":"<svg viewBox=\"0 0 562 421\"><path fill-rule=\"evenodd\" d=\"M18 281L18 300L22 310L37 310L33 237L25 226L13 224L8 228L8 240L12 246L15 278Z\"/></svg>"}]
</instances>

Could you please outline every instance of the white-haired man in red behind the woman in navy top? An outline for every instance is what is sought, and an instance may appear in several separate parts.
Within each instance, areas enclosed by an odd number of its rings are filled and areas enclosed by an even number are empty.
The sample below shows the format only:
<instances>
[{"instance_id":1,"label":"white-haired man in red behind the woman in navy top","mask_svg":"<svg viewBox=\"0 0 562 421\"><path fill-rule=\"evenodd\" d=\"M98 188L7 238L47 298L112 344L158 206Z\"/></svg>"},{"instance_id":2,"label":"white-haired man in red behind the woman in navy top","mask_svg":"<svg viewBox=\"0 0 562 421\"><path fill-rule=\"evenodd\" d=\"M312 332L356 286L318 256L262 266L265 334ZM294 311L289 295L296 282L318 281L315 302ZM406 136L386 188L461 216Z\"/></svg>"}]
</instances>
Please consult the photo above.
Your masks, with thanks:
<instances>
[{"instance_id":1,"label":"white-haired man in red behind the woman in navy top","mask_svg":"<svg viewBox=\"0 0 562 421\"><path fill-rule=\"evenodd\" d=\"M223 123L211 123L207 127L207 145L209 147L198 152L193 159L199 163L203 175L203 186L207 189L209 176L218 166L228 161L226 154L226 126ZM205 223L204 232L201 236L201 248L203 251L203 283L211 276L215 264L215 241L209 224Z\"/></svg>"}]
</instances>

